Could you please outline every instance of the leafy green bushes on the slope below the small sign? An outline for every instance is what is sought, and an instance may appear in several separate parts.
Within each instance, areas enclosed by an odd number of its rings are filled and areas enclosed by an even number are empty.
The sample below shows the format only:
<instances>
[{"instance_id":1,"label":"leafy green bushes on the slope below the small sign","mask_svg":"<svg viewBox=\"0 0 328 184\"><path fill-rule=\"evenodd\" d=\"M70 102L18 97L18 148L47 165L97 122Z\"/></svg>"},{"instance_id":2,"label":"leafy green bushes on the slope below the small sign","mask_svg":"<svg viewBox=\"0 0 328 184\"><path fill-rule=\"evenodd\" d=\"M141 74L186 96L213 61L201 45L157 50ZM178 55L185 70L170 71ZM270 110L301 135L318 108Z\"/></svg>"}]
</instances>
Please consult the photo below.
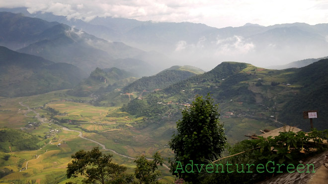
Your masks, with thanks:
<instances>
[{"instance_id":1,"label":"leafy green bushes on the slope below the small sign","mask_svg":"<svg viewBox=\"0 0 328 184\"><path fill-rule=\"evenodd\" d=\"M255 166L263 164L265 166L268 162L274 162L274 164L281 165L279 171L284 172L287 170L287 165L293 164L294 166L297 166L300 160L304 160L320 150L327 149L328 146L322 144L322 141L327 139L327 137L328 130L318 131L313 129L313 131L308 134L303 131L297 133L286 131L280 132L280 134L274 138L270 136L267 138L258 136L258 139L241 141L231 147L229 152L231 155L243 151L246 151L245 153L215 163L223 164L224 171L228 171L226 166L228 162L233 163L229 167L231 173L206 174L202 183L220 182L234 184L240 183L240 181L245 181L245 184L252 184L258 182L272 176L272 172L266 170L263 173L258 173L256 167L250 167L247 170L245 169L250 173L239 173L238 171L241 171L242 169L236 167L235 164L238 164L240 167L242 164L244 166L246 166L246 164L254 164ZM314 142L309 141L310 139L313 139ZM256 175L254 175L254 173L256 173Z\"/></svg>"}]
</instances>

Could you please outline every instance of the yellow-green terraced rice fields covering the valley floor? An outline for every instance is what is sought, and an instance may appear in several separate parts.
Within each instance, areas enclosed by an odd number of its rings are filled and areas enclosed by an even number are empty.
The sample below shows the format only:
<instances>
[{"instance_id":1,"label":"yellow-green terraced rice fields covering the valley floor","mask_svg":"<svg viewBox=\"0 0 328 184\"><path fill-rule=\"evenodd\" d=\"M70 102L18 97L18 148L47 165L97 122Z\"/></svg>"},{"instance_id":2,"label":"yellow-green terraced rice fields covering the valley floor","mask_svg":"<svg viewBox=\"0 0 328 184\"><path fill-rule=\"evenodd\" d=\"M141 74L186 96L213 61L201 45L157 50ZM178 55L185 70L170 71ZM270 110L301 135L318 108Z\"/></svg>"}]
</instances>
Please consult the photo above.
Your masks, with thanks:
<instances>
[{"instance_id":1,"label":"yellow-green terraced rice fields covering the valley floor","mask_svg":"<svg viewBox=\"0 0 328 184\"><path fill-rule=\"evenodd\" d=\"M167 128L175 125L175 122L138 129L139 126L135 127L136 122L143 118L134 118L120 112L119 107L94 107L84 103L88 100L90 99L70 97L66 95L65 90L30 97L1 97L0 127L21 129L47 138L38 150L0 152L0 172L6 174L0 178L0 182L65 184L69 181L81 181L82 178L68 180L65 176L71 155L81 149L90 150L95 146L101 149L98 143L104 144L106 149L134 158L142 154L150 158L156 151L160 151L165 158L172 155L172 151L166 145L166 140L171 134L167 136L165 133ZM50 117L47 107L55 109L59 115ZM79 123L55 123L51 118ZM31 123L32 125L29 125ZM38 125L35 125L37 123ZM79 132L66 130L64 126L81 131L83 137L98 143L85 140L79 136ZM132 159L108 150L102 151L112 154L113 162L128 167L127 173L134 172L135 164ZM10 155L7 161L1 159L4 155ZM160 181L174 181L166 168L160 167L160 170Z\"/></svg>"}]
</instances>

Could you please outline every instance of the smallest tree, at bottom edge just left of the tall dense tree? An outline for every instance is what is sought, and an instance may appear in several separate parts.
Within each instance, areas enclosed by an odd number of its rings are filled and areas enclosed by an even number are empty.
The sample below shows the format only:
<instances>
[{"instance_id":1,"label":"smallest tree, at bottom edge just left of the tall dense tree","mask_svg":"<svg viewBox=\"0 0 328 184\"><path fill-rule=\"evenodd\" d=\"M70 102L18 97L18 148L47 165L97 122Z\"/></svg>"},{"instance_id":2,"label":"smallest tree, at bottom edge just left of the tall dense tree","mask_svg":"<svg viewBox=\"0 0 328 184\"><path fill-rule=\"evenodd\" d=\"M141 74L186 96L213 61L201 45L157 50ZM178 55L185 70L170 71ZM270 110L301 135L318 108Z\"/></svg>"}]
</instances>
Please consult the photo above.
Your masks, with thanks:
<instances>
[{"instance_id":1,"label":"smallest tree, at bottom edge just left of the tall dense tree","mask_svg":"<svg viewBox=\"0 0 328 184\"><path fill-rule=\"evenodd\" d=\"M139 180L140 184L154 184L156 177L161 175L161 171L158 171L158 165L163 166L163 158L156 152L153 155L154 160L147 160L144 155L137 157L134 162L137 164L135 169L135 176Z\"/></svg>"}]
</instances>

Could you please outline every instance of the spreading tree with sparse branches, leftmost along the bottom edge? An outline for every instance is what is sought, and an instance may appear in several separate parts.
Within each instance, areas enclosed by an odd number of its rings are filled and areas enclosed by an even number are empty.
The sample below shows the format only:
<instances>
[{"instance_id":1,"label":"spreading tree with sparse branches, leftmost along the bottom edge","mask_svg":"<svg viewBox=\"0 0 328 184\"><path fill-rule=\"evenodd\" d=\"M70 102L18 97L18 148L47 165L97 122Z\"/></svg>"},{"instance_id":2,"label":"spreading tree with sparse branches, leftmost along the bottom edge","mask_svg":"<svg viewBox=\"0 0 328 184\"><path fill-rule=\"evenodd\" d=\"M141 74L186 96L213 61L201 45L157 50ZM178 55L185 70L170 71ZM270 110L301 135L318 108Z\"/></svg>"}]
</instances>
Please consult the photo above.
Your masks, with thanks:
<instances>
[{"instance_id":1,"label":"spreading tree with sparse branches, leftmost along the bottom edge","mask_svg":"<svg viewBox=\"0 0 328 184\"><path fill-rule=\"evenodd\" d=\"M112 155L102 154L98 147L91 151L80 150L72 155L73 161L68 164L67 178L85 176L83 184L105 184L114 181L126 171L126 167L112 163Z\"/></svg>"}]
</instances>

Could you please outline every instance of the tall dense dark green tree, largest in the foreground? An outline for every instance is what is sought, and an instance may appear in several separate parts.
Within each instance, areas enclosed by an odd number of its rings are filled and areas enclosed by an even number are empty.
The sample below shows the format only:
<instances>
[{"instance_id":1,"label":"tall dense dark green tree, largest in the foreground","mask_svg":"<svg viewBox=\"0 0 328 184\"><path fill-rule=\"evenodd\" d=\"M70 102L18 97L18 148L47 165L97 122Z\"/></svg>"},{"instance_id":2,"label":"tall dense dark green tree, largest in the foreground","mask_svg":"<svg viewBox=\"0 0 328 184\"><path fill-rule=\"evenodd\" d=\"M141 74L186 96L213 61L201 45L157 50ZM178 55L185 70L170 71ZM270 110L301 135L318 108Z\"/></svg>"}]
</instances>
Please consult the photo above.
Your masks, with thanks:
<instances>
[{"instance_id":1,"label":"tall dense dark green tree, largest in the foreground","mask_svg":"<svg viewBox=\"0 0 328 184\"><path fill-rule=\"evenodd\" d=\"M183 178L187 182L198 181L198 171L193 167L193 172L185 172L187 164L202 164L207 159L221 156L226 144L223 124L219 123L218 106L213 106L210 94L205 98L196 96L189 108L182 111L182 120L176 123L177 132L169 142L175 157L170 161L170 172ZM189 165L190 166L190 165ZM188 171L191 167L187 166Z\"/></svg>"}]
</instances>

